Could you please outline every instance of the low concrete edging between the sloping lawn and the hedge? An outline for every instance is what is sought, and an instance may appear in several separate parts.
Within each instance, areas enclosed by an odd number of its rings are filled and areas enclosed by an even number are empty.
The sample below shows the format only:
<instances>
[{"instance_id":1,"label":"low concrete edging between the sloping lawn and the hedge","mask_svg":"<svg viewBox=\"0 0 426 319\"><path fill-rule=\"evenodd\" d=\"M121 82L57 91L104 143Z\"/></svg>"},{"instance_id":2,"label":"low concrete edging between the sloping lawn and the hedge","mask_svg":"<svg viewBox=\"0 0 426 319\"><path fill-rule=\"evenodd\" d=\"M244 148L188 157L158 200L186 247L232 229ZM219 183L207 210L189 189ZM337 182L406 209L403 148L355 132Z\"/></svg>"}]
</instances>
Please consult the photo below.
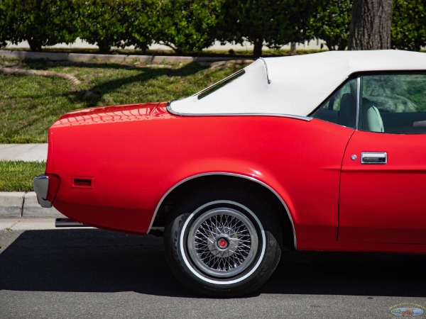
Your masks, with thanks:
<instances>
[{"instance_id":1,"label":"low concrete edging between the sloping lawn and the hedge","mask_svg":"<svg viewBox=\"0 0 426 319\"><path fill-rule=\"evenodd\" d=\"M22 60L52 60L70 62L145 62L153 64L162 63L189 63L189 62L215 62L236 60L241 62L247 59L235 57L172 57L167 55L97 55L92 53L55 53L55 52L29 52L0 50L0 57L19 58Z\"/></svg>"}]
</instances>

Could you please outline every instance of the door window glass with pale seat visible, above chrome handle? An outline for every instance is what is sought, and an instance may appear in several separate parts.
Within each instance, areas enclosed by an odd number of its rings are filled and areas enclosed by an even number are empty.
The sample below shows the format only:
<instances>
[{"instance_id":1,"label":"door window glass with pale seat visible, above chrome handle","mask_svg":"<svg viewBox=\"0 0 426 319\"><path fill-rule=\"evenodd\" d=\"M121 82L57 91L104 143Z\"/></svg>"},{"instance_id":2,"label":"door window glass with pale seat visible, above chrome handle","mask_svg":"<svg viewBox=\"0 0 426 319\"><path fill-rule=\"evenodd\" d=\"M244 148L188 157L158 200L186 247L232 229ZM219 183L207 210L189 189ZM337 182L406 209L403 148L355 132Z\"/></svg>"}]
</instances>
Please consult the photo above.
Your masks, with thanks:
<instances>
[{"instance_id":1,"label":"door window glass with pale seat visible, above chrome handle","mask_svg":"<svg viewBox=\"0 0 426 319\"><path fill-rule=\"evenodd\" d=\"M361 77L359 130L426 133L426 74Z\"/></svg>"}]
</instances>

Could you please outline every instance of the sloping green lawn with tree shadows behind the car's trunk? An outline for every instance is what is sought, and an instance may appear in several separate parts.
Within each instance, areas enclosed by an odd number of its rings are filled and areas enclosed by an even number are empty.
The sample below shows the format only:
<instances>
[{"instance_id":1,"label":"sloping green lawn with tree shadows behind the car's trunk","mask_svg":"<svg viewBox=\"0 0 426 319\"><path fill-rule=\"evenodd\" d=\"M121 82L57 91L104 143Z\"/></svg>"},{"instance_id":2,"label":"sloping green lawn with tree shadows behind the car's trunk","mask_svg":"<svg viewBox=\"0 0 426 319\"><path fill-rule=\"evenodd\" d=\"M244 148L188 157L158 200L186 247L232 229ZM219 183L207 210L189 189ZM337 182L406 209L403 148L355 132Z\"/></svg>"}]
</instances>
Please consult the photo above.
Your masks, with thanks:
<instances>
[{"instance_id":1,"label":"sloping green lawn with tree shadows behind the car's trunk","mask_svg":"<svg viewBox=\"0 0 426 319\"><path fill-rule=\"evenodd\" d=\"M82 83L75 85L58 77L0 74L0 143L47 142L50 125L69 111L170 101L194 94L241 68L211 69L197 62L154 66L0 60L0 67L13 64L22 69L72 74Z\"/></svg>"}]
</instances>

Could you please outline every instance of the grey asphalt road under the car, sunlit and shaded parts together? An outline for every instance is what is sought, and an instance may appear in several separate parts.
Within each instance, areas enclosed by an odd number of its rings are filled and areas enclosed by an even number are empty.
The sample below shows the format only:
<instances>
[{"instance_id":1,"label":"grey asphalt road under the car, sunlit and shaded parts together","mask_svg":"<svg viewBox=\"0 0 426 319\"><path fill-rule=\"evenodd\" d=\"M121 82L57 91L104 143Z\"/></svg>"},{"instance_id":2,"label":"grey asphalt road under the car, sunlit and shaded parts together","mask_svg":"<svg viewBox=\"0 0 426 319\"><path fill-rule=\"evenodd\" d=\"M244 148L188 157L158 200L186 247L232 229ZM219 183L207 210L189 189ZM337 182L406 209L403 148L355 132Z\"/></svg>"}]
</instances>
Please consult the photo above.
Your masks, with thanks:
<instances>
[{"instance_id":1,"label":"grey asphalt road under the car, sunlit and shaded parts together","mask_svg":"<svg viewBox=\"0 0 426 319\"><path fill-rule=\"evenodd\" d=\"M285 252L258 293L220 299L181 286L159 237L1 230L0 246L0 318L426 318L426 256Z\"/></svg>"}]
</instances>

